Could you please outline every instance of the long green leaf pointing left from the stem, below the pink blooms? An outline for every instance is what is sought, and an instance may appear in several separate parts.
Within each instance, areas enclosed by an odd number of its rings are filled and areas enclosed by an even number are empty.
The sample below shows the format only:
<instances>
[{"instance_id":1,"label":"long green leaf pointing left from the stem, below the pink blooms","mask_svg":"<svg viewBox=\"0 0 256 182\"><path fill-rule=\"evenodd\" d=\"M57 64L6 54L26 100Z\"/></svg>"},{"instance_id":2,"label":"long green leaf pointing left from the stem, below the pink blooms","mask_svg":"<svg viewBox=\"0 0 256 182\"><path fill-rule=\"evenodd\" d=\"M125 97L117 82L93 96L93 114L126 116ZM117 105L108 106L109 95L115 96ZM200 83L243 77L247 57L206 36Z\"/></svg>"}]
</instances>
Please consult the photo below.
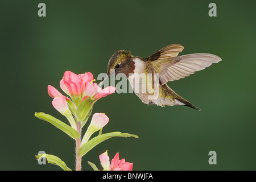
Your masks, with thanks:
<instances>
[{"instance_id":1,"label":"long green leaf pointing left from the stem, below the pink blooms","mask_svg":"<svg viewBox=\"0 0 256 182\"><path fill-rule=\"evenodd\" d=\"M35 113L35 117L51 123L52 125L56 126L58 129L64 131L64 133L68 134L69 137L73 139L77 139L80 137L79 133L77 133L77 131L73 129L71 126L68 126L64 122L60 121L59 119L56 119L55 117L52 117L49 114Z\"/></svg>"}]
</instances>

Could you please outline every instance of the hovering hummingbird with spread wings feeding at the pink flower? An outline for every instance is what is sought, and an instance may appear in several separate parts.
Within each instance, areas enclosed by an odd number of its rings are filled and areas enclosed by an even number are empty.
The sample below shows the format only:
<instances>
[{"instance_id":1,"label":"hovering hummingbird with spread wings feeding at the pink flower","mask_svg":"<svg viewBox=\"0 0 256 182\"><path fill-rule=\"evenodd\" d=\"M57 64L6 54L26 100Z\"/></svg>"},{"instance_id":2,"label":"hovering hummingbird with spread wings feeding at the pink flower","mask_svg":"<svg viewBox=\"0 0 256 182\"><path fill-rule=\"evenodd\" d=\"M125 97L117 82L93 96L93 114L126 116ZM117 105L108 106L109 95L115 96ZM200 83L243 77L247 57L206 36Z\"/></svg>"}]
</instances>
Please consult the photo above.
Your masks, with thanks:
<instances>
[{"instance_id":1,"label":"hovering hummingbird with spread wings feeding at the pink flower","mask_svg":"<svg viewBox=\"0 0 256 182\"><path fill-rule=\"evenodd\" d=\"M129 80L133 90L135 90L136 85L134 85L131 80L139 78L134 77L134 75L140 75L141 73L148 75L148 73L151 73L152 76L147 77L147 79L151 79L150 89L151 91L153 90L154 93L158 92L158 97L150 99L149 96L152 95L152 92L135 92L144 104L156 104L162 107L165 105L184 105L200 110L198 107L176 94L166 83L168 81L179 80L196 71L203 70L212 65L212 63L218 63L221 61L221 58L210 53L193 53L178 56L179 52L183 51L183 49L184 47L180 44L171 44L152 53L152 55L147 58L133 56L130 51L117 51L110 58L107 76L101 81L100 85L102 85L110 75L123 73ZM155 84L156 75L158 76L158 80L156 80L156 82L158 82L157 84ZM146 86L146 84L148 84L148 82L146 83L140 80L137 86Z\"/></svg>"}]
</instances>

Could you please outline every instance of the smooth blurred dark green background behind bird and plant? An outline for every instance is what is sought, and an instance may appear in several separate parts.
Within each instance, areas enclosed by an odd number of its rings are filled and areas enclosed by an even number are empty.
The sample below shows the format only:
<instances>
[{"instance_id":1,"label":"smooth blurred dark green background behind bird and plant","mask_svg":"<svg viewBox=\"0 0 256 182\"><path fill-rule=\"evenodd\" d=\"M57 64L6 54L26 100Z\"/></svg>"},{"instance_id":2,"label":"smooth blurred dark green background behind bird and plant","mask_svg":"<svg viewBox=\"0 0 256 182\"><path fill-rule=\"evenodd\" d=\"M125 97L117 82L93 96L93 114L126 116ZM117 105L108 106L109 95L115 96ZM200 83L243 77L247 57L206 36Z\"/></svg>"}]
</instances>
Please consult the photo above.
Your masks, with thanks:
<instances>
[{"instance_id":1,"label":"smooth blurred dark green background behind bird and plant","mask_svg":"<svg viewBox=\"0 0 256 182\"><path fill-rule=\"evenodd\" d=\"M46 17L38 4L46 3ZM217 17L209 17L209 3ZM75 140L34 117L43 111L65 120L52 106L47 85L60 90L67 70L105 73L110 56L125 49L147 57L168 44L181 53L222 58L204 71L168 82L200 107L147 106L135 94L112 94L94 105L108 115L103 133L112 138L86 154L134 163L134 170L255 170L255 1L2 1L1 170L61 170L35 160L38 151L57 155L75 168ZM97 80L96 82L100 82ZM209 151L217 165L209 165Z\"/></svg>"}]
</instances>

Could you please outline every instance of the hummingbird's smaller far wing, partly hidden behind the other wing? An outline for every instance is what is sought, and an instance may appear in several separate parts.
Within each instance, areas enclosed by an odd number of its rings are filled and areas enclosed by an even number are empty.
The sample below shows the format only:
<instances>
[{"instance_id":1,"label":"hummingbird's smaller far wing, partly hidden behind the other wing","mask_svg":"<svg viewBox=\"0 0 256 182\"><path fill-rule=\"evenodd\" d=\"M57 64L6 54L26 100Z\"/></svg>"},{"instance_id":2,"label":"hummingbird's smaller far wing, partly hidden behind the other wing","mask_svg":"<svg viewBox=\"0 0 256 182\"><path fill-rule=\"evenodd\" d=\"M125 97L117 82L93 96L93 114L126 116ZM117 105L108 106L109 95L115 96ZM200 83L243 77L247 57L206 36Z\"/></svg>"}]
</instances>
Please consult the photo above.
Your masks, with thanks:
<instances>
[{"instance_id":1,"label":"hummingbird's smaller far wing, partly hidden behind the other wing","mask_svg":"<svg viewBox=\"0 0 256 182\"><path fill-rule=\"evenodd\" d=\"M176 57L179 52L183 51L184 47L180 44L171 44L166 46L159 51L152 53L152 55L148 56L146 60L148 61L155 61L159 59L165 59L168 57Z\"/></svg>"}]
</instances>

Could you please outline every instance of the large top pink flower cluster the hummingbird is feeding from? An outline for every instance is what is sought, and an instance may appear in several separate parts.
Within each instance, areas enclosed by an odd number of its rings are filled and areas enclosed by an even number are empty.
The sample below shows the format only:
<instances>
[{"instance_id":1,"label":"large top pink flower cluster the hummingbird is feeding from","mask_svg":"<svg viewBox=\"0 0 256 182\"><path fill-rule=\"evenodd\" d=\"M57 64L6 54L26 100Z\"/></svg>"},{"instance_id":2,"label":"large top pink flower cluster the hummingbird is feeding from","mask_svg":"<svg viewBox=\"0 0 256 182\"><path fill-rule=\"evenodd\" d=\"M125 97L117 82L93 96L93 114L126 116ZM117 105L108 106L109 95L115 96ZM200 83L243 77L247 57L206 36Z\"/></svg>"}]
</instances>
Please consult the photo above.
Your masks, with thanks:
<instances>
[{"instance_id":1,"label":"large top pink flower cluster the hummingbird is feeding from","mask_svg":"<svg viewBox=\"0 0 256 182\"><path fill-rule=\"evenodd\" d=\"M108 86L102 90L93 81L95 80L93 80L93 75L90 72L76 75L71 71L66 71L63 79L60 81L60 88L71 97L71 100L65 97L69 109L73 115L77 116L79 122L83 122L83 125L92 111L94 102L115 91L113 86ZM48 85L48 94L51 97L63 96L51 85Z\"/></svg>"}]
</instances>

